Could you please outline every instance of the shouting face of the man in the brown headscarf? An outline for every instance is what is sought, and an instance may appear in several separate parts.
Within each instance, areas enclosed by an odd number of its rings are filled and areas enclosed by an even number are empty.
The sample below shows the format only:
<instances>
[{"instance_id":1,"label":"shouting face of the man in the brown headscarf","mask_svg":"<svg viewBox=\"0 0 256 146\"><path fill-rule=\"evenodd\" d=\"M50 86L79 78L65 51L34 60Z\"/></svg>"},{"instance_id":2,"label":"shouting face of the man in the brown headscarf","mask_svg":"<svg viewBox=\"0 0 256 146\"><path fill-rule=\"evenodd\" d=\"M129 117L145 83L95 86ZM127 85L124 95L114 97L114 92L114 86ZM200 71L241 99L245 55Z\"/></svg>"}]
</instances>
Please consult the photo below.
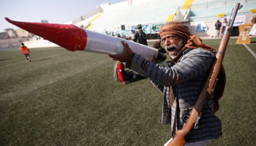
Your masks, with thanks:
<instances>
[{"instance_id":1,"label":"shouting face of the man in the brown headscarf","mask_svg":"<svg viewBox=\"0 0 256 146\"><path fill-rule=\"evenodd\" d=\"M184 39L175 34L166 34L165 36L161 37L161 40L165 50L172 59L177 57L179 51L184 46Z\"/></svg>"}]
</instances>

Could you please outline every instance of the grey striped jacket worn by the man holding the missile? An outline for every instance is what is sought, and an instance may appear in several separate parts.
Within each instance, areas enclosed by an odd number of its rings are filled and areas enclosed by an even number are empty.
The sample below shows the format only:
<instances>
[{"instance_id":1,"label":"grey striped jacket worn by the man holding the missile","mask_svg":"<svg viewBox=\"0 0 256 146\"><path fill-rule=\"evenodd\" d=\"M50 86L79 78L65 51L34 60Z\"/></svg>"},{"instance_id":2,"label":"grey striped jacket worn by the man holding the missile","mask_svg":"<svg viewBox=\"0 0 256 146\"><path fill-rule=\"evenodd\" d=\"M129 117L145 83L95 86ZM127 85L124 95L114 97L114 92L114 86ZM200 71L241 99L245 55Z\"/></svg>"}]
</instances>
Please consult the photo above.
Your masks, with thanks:
<instances>
[{"instance_id":1,"label":"grey striped jacket worn by the man holding the missile","mask_svg":"<svg viewBox=\"0 0 256 146\"><path fill-rule=\"evenodd\" d=\"M190 50L187 48L180 61L170 67L153 64L137 54L132 58L130 67L148 77L157 89L163 93L162 123L171 123L173 128L176 106L178 106L177 131L186 125L185 120L192 112L214 58L214 53L208 50L202 48ZM172 109L170 109L170 86L173 89L173 97L178 99L178 105L174 101ZM222 136L222 123L214 115L214 101L211 99L203 111L200 126L189 132L186 142L217 139L220 136Z\"/></svg>"}]
</instances>

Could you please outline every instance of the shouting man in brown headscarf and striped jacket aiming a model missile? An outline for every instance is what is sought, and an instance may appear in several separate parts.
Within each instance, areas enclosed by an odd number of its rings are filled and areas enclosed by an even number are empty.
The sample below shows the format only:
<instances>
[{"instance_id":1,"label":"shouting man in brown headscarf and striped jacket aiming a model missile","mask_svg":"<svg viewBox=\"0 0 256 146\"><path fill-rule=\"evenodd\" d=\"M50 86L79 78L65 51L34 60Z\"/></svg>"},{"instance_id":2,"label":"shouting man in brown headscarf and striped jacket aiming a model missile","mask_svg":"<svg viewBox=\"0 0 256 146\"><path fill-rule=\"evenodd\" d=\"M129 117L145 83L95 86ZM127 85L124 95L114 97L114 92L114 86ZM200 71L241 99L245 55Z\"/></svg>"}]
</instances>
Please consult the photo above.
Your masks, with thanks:
<instances>
[{"instance_id":1,"label":"shouting man in brown headscarf and striped jacket aiming a model missile","mask_svg":"<svg viewBox=\"0 0 256 146\"><path fill-rule=\"evenodd\" d=\"M133 53L124 41L121 41L125 48L124 53L109 56L113 60L127 62L127 68L148 77L163 93L162 123L171 123L172 131L177 131L186 125L203 88L215 58L214 48L203 45L199 37L191 35L189 28L177 20L165 23L160 28L159 35L173 61L170 67L147 61ZM222 123L214 115L214 100L210 99L203 110L199 128L192 129L187 134L185 145L206 145L210 139L220 136Z\"/></svg>"}]
</instances>

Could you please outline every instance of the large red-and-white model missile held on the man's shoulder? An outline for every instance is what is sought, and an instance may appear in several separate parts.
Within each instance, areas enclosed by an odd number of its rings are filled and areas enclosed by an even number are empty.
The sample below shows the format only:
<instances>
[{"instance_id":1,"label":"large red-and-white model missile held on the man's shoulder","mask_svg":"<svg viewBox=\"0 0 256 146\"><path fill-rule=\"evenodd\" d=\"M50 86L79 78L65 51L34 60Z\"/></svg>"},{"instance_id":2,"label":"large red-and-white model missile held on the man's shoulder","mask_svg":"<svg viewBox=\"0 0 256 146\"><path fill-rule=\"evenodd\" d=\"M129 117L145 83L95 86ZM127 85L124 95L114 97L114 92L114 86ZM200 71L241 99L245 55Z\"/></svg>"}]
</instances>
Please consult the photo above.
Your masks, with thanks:
<instances>
[{"instance_id":1,"label":"large red-and-white model missile held on the man's shoulder","mask_svg":"<svg viewBox=\"0 0 256 146\"><path fill-rule=\"evenodd\" d=\"M72 24L28 23L10 20L9 18L5 19L15 26L23 28L44 39L48 39L50 42L70 51L83 50L108 55L118 55L124 52L124 46L121 44L122 39L106 34L99 34ZM127 42L134 53L150 61L153 60L154 55L156 57L158 55L158 50L153 47L140 45L125 39L124 41Z\"/></svg>"}]
</instances>

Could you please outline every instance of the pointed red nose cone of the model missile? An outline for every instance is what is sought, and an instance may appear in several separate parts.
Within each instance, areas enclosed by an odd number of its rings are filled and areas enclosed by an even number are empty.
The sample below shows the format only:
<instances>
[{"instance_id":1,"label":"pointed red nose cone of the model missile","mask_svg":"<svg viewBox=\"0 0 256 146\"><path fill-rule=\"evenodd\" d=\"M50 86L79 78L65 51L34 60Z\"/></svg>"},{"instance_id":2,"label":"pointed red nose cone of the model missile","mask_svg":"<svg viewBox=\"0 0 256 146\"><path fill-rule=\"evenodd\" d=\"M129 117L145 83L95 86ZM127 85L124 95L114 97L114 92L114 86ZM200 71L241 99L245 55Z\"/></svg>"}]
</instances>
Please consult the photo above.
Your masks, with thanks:
<instances>
[{"instance_id":1,"label":"pointed red nose cone of the model missile","mask_svg":"<svg viewBox=\"0 0 256 146\"><path fill-rule=\"evenodd\" d=\"M27 23L13 21L9 18L5 18L5 20L32 34L48 39L50 42L64 47L67 50L75 51L84 50L86 48L86 31L72 24Z\"/></svg>"}]
</instances>

